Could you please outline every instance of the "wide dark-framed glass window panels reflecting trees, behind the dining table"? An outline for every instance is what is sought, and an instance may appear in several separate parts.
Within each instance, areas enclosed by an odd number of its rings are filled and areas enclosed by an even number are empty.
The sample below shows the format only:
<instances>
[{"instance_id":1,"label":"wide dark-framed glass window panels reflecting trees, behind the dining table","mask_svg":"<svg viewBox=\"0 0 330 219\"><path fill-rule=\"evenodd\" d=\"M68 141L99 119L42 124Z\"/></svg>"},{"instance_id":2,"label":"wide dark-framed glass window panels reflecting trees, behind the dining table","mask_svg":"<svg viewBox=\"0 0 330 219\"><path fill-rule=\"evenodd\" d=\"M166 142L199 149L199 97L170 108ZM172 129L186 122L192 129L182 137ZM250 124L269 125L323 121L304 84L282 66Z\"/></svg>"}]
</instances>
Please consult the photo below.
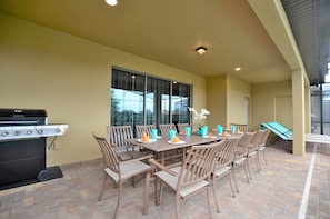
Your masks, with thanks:
<instances>
[{"instance_id":1,"label":"wide dark-framed glass window panels reflecting trees, behind the dining table","mask_svg":"<svg viewBox=\"0 0 330 219\"><path fill-rule=\"evenodd\" d=\"M189 123L191 86L112 69L111 126Z\"/></svg>"}]
</instances>

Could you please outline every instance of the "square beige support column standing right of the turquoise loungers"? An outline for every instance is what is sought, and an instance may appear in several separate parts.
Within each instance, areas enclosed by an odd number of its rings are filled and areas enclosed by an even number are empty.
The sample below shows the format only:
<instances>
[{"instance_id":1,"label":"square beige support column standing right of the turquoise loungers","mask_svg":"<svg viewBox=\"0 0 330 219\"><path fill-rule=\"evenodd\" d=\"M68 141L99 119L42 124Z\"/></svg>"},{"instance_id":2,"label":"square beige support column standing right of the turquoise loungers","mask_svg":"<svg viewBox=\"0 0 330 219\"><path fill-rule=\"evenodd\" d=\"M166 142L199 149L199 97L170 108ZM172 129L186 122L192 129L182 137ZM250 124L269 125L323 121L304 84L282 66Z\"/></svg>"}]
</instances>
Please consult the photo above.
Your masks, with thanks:
<instances>
[{"instance_id":1,"label":"square beige support column standing right of the turquoise loungers","mask_svg":"<svg viewBox=\"0 0 330 219\"><path fill-rule=\"evenodd\" d=\"M304 146L304 79L301 69L292 72L293 145L292 153L303 156Z\"/></svg>"}]
</instances>

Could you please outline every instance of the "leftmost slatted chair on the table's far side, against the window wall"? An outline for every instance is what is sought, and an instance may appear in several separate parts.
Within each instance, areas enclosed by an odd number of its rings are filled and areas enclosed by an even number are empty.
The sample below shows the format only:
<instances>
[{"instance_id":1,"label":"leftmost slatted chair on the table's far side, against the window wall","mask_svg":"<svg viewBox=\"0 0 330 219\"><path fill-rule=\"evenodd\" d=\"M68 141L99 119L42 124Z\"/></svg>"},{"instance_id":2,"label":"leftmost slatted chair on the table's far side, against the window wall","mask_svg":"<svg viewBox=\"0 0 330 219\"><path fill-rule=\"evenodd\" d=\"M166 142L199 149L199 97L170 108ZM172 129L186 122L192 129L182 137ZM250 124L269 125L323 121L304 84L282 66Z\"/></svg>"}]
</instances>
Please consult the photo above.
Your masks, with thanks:
<instances>
[{"instance_id":1,"label":"leftmost slatted chair on the table's far side, against the window wall","mask_svg":"<svg viewBox=\"0 0 330 219\"><path fill-rule=\"evenodd\" d=\"M134 138L131 126L108 126L107 135L110 146L113 147L121 160L139 158L146 155L146 152L140 151L140 148L126 141Z\"/></svg>"}]
</instances>

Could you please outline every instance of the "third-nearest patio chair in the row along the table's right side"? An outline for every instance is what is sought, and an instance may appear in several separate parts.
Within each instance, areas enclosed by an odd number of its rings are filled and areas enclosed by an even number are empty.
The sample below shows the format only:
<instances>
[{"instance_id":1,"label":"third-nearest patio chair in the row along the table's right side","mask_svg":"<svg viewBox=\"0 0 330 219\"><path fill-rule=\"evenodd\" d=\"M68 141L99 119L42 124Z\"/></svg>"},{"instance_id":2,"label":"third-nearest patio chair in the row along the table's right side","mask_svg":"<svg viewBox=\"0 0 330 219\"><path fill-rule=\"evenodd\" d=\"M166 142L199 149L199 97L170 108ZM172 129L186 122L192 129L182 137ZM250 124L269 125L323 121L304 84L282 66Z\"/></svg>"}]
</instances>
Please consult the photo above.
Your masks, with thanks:
<instances>
[{"instance_id":1,"label":"third-nearest patio chair in the row along the table's right side","mask_svg":"<svg viewBox=\"0 0 330 219\"><path fill-rule=\"evenodd\" d=\"M244 171L246 171L247 180L248 180L248 183L250 182L247 159L248 159L249 145L256 133L257 133L257 131L244 132L243 137L241 138L241 140L239 141L239 143L237 146L237 150L234 152L234 159L233 159L233 169L232 169L233 178L236 179L236 181L237 181L236 167L244 163ZM236 186L237 186L237 183L236 183ZM237 192L239 192L238 186L236 187L236 189L237 189Z\"/></svg>"}]
</instances>

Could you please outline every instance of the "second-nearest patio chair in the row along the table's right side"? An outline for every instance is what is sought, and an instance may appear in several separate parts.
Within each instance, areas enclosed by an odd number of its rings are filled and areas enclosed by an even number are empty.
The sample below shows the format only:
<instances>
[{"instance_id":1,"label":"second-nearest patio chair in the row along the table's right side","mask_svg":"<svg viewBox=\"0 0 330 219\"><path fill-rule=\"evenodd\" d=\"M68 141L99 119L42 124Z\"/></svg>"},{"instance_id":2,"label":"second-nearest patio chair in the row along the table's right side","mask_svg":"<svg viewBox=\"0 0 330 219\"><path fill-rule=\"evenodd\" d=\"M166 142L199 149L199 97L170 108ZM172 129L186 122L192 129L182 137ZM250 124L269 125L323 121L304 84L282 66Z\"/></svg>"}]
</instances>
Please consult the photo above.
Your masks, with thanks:
<instances>
[{"instance_id":1,"label":"second-nearest patio chair in the row along the table's right side","mask_svg":"<svg viewBox=\"0 0 330 219\"><path fill-rule=\"evenodd\" d=\"M216 165L212 169L212 179L213 179L213 195L214 195L218 212L220 212L220 208L219 208L218 198L217 198L217 179L228 173L231 192L232 192L232 196L234 197L234 191L231 182L231 170L232 170L232 162L234 158L234 151L241 138L242 137L226 138L224 141L221 143L219 152L216 157Z\"/></svg>"}]
</instances>

